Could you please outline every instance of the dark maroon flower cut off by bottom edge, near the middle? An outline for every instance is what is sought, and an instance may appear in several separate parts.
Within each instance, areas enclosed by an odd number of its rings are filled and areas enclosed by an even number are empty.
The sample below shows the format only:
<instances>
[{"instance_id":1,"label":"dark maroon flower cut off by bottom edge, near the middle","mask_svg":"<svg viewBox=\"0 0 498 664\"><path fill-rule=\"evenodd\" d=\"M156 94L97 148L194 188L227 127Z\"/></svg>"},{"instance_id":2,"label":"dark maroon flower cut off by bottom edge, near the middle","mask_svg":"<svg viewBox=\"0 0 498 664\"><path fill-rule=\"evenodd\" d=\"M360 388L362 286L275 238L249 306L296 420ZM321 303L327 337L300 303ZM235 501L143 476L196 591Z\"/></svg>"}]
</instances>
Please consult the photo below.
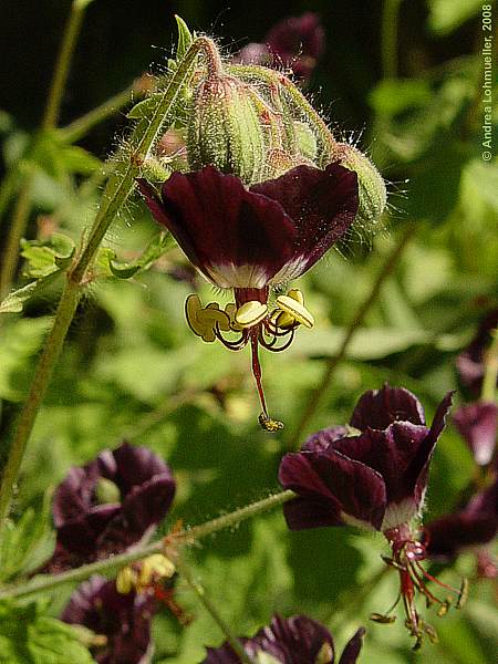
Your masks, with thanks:
<instances>
[{"instance_id":1,"label":"dark maroon flower cut off by bottom edge, near the middle","mask_svg":"<svg viewBox=\"0 0 498 664\"><path fill-rule=\"evenodd\" d=\"M360 654L361 627L339 660L339 664L354 664ZM241 639L243 650L250 657L266 653L282 664L333 664L335 662L334 643L331 634L320 623L305 615L282 619L276 615L269 627L260 630L252 639ZM221 647L207 649L204 664L239 664L240 658L228 643Z\"/></svg>"}]
</instances>

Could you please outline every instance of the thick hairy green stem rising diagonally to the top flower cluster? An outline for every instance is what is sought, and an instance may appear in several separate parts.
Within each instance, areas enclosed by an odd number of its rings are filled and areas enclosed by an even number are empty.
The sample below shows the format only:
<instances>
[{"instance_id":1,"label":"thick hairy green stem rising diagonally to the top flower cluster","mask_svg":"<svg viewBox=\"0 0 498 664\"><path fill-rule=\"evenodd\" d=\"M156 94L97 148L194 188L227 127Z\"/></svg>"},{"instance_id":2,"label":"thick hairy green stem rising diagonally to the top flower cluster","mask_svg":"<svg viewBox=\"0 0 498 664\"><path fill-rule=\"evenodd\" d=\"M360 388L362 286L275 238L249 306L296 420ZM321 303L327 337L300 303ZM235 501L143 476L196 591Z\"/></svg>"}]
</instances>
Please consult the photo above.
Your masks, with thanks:
<instances>
[{"instance_id":1,"label":"thick hairy green stem rising diagonally to the top flower cluster","mask_svg":"<svg viewBox=\"0 0 498 664\"><path fill-rule=\"evenodd\" d=\"M86 246L68 273L68 284L59 303L52 332L35 369L30 393L19 415L10 446L9 459L0 486L0 536L10 511L12 492L19 476L28 439L49 386L53 367L61 354L69 325L80 301L85 272L114 217L133 191L135 177L139 174L141 165L154 145L159 131L170 121L179 91L189 74L197 54L207 48L212 48L212 42L207 38L199 38L190 45L175 74L172 76L168 86L165 89L151 122L146 123L144 120L136 126L129 141L132 147L135 148L134 153L129 160L117 163L116 170L107 181L104 190L103 203L96 215Z\"/></svg>"}]
</instances>

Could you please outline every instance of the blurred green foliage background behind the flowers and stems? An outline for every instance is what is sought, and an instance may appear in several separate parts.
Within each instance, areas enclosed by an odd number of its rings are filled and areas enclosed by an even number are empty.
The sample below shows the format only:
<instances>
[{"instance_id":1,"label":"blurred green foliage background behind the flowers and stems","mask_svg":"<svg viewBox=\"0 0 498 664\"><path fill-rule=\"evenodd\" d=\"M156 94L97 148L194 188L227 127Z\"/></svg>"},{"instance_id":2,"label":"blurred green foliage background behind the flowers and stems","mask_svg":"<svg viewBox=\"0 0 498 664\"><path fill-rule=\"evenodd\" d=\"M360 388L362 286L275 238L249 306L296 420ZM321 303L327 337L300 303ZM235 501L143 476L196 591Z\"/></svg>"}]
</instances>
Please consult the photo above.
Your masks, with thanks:
<instances>
[{"instance_id":1,"label":"blurred green foliage background behind the flowers and stems","mask_svg":"<svg viewBox=\"0 0 498 664\"><path fill-rule=\"evenodd\" d=\"M15 166L40 122L70 4L3 0L0 6L4 173ZM292 434L310 395L408 222L415 232L304 433L346 422L359 395L385 381L415 392L432 417L444 393L457 386L455 357L483 314L498 304L498 164L496 157L485 163L480 156L480 7L471 0L294 1L284 10L262 0L90 4L62 125L125 89L151 63L160 73L176 40L174 13L237 51L261 41L286 15L318 12L326 52L309 92L340 136L351 133L372 154L390 183L390 209L372 242L353 239L346 257L332 252L300 280L317 326L300 330L288 352L262 356L270 411L286 422L274 437L256 422L247 353L204 344L189 333L185 298L193 288L204 301L212 292L199 279L193 287L172 276L185 266L178 250L132 280L107 277L92 283L37 422L17 496L18 515L30 506L40 509L43 494L71 465L124 437L149 446L172 465L178 496L168 525L177 518L198 523L278 489L280 458L294 443ZM393 51L388 44L396 32ZM495 145L496 120L495 110ZM125 126L124 113L118 113L79 145L104 159ZM42 217L45 227L55 225L77 240L96 207L97 189L84 185L97 168L97 162L92 166L87 160L74 173L63 164L61 175L40 163L27 237L40 236ZM3 241L11 209L10 204L0 226ZM129 259L156 232L136 198L106 243ZM19 283L25 281L20 274ZM0 329L3 432L25 396L61 282L30 301L23 317L9 314ZM460 392L457 402L466 398ZM474 471L467 447L449 426L433 464L426 519L450 511ZM475 580L465 611L430 621L439 644L426 645L422 655L409 651L401 618L396 625L370 623L369 614L386 610L396 595L394 572L375 581L382 552L382 538L352 529L288 532L279 512L217 535L191 558L211 601L238 634L252 634L274 612L308 613L333 630L340 646L359 625L366 625L360 662L496 661L496 580ZM442 578L458 585L463 574L475 574L471 553ZM66 589L58 593L54 615L68 594ZM191 664L201 660L203 645L222 640L181 582L178 601L196 620L181 630L166 613L158 616L155 662Z\"/></svg>"}]
</instances>

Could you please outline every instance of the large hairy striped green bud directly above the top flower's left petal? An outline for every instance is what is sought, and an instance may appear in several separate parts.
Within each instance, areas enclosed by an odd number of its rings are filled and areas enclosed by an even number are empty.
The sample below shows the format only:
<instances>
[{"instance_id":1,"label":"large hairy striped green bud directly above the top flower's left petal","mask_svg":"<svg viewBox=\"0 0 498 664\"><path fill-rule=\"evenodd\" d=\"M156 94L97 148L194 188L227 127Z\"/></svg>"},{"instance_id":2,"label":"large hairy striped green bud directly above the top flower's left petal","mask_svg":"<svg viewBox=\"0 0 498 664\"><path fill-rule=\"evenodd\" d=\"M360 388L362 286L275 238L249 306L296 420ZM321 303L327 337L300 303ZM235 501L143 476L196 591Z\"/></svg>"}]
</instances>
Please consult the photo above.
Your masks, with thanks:
<instances>
[{"instance_id":1,"label":"large hairy striped green bud directly above the top flower's left petal","mask_svg":"<svg viewBox=\"0 0 498 664\"><path fill-rule=\"evenodd\" d=\"M188 124L187 153L195 170L212 165L246 183L260 179L264 136L247 84L215 72L199 83Z\"/></svg>"}]
</instances>

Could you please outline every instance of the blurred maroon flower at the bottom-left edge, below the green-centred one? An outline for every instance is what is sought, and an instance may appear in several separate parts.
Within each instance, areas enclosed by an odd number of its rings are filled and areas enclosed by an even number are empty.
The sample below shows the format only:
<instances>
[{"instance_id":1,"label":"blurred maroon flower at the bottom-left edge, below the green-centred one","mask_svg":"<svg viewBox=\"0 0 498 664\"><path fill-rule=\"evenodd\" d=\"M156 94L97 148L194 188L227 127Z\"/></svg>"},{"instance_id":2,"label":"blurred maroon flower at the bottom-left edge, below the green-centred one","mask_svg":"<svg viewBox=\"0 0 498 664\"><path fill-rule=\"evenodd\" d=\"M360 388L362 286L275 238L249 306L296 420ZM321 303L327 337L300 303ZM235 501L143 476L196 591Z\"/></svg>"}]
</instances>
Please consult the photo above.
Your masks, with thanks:
<instances>
[{"instance_id":1,"label":"blurred maroon flower at the bottom-left edge, below the green-centred one","mask_svg":"<svg viewBox=\"0 0 498 664\"><path fill-rule=\"evenodd\" d=\"M73 592L61 619L95 633L91 652L98 664L146 664L154 610L152 596L122 594L114 581L92 577Z\"/></svg>"}]
</instances>

